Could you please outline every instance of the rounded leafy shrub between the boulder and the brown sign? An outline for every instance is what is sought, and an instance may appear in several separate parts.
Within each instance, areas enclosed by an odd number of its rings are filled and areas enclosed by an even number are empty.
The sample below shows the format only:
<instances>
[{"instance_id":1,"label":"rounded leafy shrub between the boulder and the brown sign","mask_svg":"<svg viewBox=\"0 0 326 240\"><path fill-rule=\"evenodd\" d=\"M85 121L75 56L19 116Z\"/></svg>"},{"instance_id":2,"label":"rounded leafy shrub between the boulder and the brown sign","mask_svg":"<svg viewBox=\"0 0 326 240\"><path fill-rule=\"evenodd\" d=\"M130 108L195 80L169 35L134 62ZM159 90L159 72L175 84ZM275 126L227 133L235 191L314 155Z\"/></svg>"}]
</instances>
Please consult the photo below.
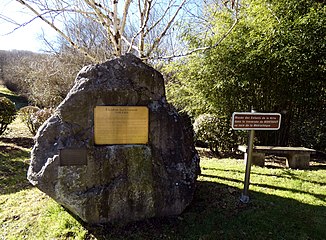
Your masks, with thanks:
<instances>
[{"instance_id":1,"label":"rounded leafy shrub between the boulder and the brown sign","mask_svg":"<svg viewBox=\"0 0 326 240\"><path fill-rule=\"evenodd\" d=\"M233 151L242 143L242 135L231 128L231 120L214 114L202 114L195 119L195 139L208 145L214 153Z\"/></svg>"}]
</instances>

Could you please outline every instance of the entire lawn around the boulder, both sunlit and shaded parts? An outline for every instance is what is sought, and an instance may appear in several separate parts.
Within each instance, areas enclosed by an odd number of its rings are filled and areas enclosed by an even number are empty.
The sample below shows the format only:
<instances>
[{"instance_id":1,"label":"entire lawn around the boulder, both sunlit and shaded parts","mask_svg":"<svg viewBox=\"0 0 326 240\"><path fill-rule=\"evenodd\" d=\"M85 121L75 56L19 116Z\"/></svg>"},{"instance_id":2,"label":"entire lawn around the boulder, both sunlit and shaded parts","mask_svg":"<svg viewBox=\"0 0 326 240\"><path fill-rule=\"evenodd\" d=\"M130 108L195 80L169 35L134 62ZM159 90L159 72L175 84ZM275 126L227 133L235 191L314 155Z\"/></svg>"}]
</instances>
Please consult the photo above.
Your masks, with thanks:
<instances>
[{"instance_id":1,"label":"entire lawn around the boulder, both sunlit and shaded parts","mask_svg":"<svg viewBox=\"0 0 326 240\"><path fill-rule=\"evenodd\" d=\"M0 136L0 239L326 239L326 166L252 167L239 198L240 159L201 157L192 204L180 216L88 226L26 180L32 136L19 118Z\"/></svg>"}]
</instances>

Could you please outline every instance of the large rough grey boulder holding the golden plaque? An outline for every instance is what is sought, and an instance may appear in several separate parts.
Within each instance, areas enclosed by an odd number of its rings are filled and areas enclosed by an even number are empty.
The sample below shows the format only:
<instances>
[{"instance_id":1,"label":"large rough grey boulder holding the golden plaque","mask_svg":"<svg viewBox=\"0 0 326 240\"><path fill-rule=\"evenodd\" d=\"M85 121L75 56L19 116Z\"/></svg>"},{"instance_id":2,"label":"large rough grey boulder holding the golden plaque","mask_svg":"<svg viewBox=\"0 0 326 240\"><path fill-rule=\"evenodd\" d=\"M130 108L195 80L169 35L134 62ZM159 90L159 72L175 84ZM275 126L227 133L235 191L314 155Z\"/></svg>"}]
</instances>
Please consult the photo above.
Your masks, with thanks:
<instances>
[{"instance_id":1,"label":"large rough grey boulder holding the golden plaque","mask_svg":"<svg viewBox=\"0 0 326 240\"><path fill-rule=\"evenodd\" d=\"M97 106L147 107L148 142L95 144ZM189 119L167 103L162 75L128 54L78 73L38 130L27 178L84 222L98 224L180 214L198 173Z\"/></svg>"}]
</instances>

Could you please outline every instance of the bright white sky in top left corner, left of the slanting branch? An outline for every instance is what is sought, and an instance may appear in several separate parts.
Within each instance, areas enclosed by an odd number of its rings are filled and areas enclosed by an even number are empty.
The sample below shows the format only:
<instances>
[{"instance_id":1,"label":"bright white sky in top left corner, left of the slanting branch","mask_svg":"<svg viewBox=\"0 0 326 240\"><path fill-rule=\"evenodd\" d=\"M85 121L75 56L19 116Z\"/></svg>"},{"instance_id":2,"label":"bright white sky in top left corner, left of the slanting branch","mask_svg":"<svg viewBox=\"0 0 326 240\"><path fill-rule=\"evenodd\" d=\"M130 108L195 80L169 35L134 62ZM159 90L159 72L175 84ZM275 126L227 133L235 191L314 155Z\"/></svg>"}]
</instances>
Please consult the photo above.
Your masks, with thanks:
<instances>
[{"instance_id":1,"label":"bright white sky in top left corner, left of the slanting branch","mask_svg":"<svg viewBox=\"0 0 326 240\"><path fill-rule=\"evenodd\" d=\"M34 20L32 23L13 31L17 25L6 22L3 19L4 17L13 19L18 23L25 23L32 19L33 15L28 13L28 11L15 0L1 0L0 50L16 49L41 52L45 49L44 42L40 39L42 32L44 31L49 39L55 36L55 31L41 20Z\"/></svg>"}]
</instances>

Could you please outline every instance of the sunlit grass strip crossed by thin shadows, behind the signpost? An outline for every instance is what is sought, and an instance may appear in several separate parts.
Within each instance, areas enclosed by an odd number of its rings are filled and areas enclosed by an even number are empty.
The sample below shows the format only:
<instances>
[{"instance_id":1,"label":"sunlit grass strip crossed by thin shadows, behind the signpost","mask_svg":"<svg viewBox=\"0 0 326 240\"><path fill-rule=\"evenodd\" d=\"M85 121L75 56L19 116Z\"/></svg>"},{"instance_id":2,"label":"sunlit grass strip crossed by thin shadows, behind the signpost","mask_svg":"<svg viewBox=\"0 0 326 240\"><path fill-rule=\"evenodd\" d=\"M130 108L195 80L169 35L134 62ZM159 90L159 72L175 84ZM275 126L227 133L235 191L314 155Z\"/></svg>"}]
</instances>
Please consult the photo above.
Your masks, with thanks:
<instances>
[{"instance_id":1,"label":"sunlit grass strip crossed by thin shadows, behind the signpost","mask_svg":"<svg viewBox=\"0 0 326 240\"><path fill-rule=\"evenodd\" d=\"M201 180L215 181L243 189L245 165L235 159L202 159ZM218 176L218 178L215 178ZM302 203L326 206L326 170L294 170L252 166L250 190Z\"/></svg>"}]
</instances>

